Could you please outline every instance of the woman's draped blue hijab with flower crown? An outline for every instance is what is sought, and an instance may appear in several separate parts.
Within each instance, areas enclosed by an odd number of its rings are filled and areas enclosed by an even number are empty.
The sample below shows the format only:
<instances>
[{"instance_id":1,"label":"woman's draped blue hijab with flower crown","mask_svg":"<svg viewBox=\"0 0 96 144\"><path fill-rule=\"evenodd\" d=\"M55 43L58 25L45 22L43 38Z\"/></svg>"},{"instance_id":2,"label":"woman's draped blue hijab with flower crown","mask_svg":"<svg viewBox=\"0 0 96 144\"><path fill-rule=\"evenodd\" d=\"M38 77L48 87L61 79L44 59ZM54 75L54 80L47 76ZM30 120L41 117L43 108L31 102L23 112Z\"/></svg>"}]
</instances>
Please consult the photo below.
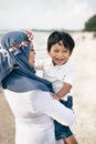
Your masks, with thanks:
<instances>
[{"instance_id":1,"label":"woman's draped blue hijab with flower crown","mask_svg":"<svg viewBox=\"0 0 96 144\"><path fill-rule=\"evenodd\" d=\"M29 31L12 31L1 38L2 48L9 53L10 63L14 61L13 70L1 81L3 89L14 92L31 90L53 92L52 83L36 76L34 68L29 63L32 38Z\"/></svg>"}]
</instances>

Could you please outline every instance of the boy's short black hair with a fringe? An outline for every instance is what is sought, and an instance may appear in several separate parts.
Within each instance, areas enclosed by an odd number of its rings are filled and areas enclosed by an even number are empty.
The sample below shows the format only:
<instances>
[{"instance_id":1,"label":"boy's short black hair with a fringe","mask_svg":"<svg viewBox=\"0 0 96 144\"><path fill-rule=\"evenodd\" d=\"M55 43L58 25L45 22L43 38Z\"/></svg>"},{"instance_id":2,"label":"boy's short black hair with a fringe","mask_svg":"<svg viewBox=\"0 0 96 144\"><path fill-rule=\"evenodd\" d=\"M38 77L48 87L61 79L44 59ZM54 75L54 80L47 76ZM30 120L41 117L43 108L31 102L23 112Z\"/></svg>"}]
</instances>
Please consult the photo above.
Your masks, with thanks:
<instances>
[{"instance_id":1,"label":"boy's short black hair with a fringe","mask_svg":"<svg viewBox=\"0 0 96 144\"><path fill-rule=\"evenodd\" d=\"M47 39L47 51L51 51L52 45L58 43L61 45L61 41L63 42L63 45L70 50L70 54L72 53L75 42L73 38L63 31L54 31L50 34Z\"/></svg>"}]
</instances>

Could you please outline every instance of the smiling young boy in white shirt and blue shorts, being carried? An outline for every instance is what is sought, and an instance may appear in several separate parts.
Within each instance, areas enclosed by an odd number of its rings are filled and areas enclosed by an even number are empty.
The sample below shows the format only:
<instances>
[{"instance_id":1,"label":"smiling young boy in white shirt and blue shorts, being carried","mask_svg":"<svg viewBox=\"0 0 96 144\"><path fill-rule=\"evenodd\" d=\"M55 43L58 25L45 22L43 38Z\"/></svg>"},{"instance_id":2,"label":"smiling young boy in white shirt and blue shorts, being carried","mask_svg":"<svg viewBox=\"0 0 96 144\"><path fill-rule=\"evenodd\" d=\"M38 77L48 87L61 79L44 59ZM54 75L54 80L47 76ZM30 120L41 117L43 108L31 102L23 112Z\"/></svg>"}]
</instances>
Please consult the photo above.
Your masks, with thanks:
<instances>
[{"instance_id":1,"label":"smiling young boy in white shirt and blue shorts, being carried","mask_svg":"<svg viewBox=\"0 0 96 144\"><path fill-rule=\"evenodd\" d=\"M73 106L71 89L74 81L74 68L68 59L74 47L75 42L68 33L54 31L47 39L47 53L51 59L35 64L35 68L43 71L43 78L52 82L55 91L53 96L70 109ZM56 140L63 140L64 144L77 144L68 126L61 125L56 121L54 123Z\"/></svg>"}]
</instances>

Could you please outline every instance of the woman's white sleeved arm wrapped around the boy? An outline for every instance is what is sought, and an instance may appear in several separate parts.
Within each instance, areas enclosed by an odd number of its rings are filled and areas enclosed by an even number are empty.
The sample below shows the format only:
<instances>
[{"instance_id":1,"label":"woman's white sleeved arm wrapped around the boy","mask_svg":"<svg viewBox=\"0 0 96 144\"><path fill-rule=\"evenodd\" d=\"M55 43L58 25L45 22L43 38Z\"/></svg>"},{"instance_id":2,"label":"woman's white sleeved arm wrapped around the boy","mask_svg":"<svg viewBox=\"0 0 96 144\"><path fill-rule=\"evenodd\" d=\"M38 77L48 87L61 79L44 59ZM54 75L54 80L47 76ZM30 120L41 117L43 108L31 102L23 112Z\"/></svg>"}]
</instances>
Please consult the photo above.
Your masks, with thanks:
<instances>
[{"instance_id":1,"label":"woman's white sleeved arm wrapped around the boy","mask_svg":"<svg viewBox=\"0 0 96 144\"><path fill-rule=\"evenodd\" d=\"M51 116L63 125L70 125L75 122L73 111L53 99L49 92L36 91L33 102L35 111Z\"/></svg>"}]
</instances>

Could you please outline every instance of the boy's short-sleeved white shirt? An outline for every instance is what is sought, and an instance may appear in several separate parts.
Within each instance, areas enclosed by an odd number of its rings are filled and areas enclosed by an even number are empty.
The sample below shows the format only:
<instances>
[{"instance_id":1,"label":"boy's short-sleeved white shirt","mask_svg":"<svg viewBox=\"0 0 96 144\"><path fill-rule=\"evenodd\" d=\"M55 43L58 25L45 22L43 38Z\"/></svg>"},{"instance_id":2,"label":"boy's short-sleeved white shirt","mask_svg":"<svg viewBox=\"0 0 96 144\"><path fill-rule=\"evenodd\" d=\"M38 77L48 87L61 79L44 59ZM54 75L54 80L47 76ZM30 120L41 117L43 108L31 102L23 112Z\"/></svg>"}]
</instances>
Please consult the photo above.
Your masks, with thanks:
<instances>
[{"instance_id":1,"label":"boy's short-sleeved white shirt","mask_svg":"<svg viewBox=\"0 0 96 144\"><path fill-rule=\"evenodd\" d=\"M64 83L73 85L75 70L70 61L63 65L53 65L51 59L44 59L35 62L35 69L42 70L43 78L52 82L55 93L64 86ZM63 99L66 100L67 95Z\"/></svg>"}]
</instances>

